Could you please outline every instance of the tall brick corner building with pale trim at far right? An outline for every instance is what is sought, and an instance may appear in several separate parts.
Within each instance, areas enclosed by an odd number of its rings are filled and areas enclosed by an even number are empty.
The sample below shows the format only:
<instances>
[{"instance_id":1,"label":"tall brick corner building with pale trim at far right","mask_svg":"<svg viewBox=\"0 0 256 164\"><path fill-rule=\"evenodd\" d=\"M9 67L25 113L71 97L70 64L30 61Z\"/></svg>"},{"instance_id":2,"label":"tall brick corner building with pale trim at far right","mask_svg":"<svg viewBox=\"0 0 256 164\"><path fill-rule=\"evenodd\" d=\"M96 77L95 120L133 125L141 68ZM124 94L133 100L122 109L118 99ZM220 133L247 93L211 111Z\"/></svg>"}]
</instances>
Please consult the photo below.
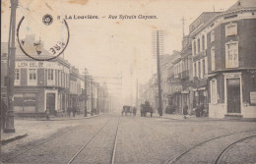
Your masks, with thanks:
<instances>
[{"instance_id":1,"label":"tall brick corner building with pale trim at far right","mask_svg":"<svg viewBox=\"0 0 256 164\"><path fill-rule=\"evenodd\" d=\"M255 14L256 2L240 0L203 25L204 36L193 39L194 52L206 43L209 117L256 118ZM197 68L194 64L199 75Z\"/></svg>"}]
</instances>

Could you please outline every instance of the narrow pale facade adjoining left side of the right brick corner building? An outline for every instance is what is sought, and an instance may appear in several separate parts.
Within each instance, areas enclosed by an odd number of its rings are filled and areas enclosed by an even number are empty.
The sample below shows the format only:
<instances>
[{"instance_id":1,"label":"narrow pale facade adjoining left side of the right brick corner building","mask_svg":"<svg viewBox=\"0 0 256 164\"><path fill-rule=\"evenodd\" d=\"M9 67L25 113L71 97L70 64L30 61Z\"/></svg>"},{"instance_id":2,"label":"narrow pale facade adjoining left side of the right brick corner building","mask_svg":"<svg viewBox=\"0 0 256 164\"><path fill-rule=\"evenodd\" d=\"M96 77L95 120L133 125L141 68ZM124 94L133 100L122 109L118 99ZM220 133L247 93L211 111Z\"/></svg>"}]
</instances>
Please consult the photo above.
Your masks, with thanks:
<instances>
[{"instance_id":1,"label":"narrow pale facade adjoining left side of the right brick corner building","mask_svg":"<svg viewBox=\"0 0 256 164\"><path fill-rule=\"evenodd\" d=\"M189 26L189 35L192 38L193 108L200 104L203 104L206 110L209 108L207 49L210 46L210 37L204 27L219 14L220 12L204 12Z\"/></svg>"}]
</instances>

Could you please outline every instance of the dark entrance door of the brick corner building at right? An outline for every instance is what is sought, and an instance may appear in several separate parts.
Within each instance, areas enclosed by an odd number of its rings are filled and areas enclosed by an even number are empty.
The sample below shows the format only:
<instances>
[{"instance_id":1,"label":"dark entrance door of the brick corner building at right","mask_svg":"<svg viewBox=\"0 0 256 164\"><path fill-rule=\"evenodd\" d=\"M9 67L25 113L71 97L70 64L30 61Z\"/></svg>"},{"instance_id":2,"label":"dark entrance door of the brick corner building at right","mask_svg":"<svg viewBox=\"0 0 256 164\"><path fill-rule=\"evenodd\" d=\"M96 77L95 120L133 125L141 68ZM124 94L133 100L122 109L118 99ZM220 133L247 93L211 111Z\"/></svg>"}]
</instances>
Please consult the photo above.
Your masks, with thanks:
<instances>
[{"instance_id":1,"label":"dark entrance door of the brick corner building at right","mask_svg":"<svg viewBox=\"0 0 256 164\"><path fill-rule=\"evenodd\" d=\"M240 80L227 80L227 113L241 113Z\"/></svg>"}]
</instances>

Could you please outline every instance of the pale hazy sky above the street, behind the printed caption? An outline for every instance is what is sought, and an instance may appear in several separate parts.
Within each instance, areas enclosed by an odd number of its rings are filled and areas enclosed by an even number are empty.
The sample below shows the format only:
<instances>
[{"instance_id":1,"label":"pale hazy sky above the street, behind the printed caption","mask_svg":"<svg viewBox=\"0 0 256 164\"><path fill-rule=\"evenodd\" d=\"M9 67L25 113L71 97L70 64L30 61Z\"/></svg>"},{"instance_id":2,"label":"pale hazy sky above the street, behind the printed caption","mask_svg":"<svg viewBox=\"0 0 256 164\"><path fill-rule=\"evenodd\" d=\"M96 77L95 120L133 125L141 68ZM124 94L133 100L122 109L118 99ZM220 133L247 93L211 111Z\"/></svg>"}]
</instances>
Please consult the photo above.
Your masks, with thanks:
<instances>
[{"instance_id":1,"label":"pale hazy sky above the street, behind the printed caption","mask_svg":"<svg viewBox=\"0 0 256 164\"><path fill-rule=\"evenodd\" d=\"M122 75L122 86L109 82L110 92L122 93L123 101L134 103L136 80L147 82L157 72L156 57L152 54L152 31L164 31L164 54L181 50L182 22L185 34L189 25L203 12L224 11L236 0L19 0L17 23L21 18L31 18L30 32L40 32L36 37L55 36L57 29L42 29L41 18L53 16L53 21L66 19L70 40L64 58L73 66L85 68L95 77ZM2 0L2 41L8 40L10 0ZM74 19L74 16L97 16L98 19ZM119 19L119 15L136 16L137 19ZM155 16L157 19L138 19L139 15ZM117 19L109 17L117 16ZM28 20L28 19L27 19ZM50 26L49 26L50 27ZM59 33L58 33L59 34ZM65 35L66 36L66 35ZM37 38L38 39L38 38ZM50 40L44 40L49 44ZM118 88L122 88L121 91Z\"/></svg>"}]
</instances>

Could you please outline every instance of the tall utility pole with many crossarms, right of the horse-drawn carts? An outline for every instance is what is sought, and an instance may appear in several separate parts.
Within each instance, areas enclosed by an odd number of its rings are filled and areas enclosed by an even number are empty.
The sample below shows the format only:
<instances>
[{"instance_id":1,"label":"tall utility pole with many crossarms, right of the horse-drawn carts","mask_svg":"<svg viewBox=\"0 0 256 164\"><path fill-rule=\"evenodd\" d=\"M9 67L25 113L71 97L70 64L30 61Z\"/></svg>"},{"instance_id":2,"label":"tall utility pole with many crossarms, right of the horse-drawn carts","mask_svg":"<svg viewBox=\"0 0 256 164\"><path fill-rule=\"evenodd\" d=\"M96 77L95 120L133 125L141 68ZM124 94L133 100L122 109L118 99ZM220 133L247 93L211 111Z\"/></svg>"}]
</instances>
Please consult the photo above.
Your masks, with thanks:
<instances>
[{"instance_id":1,"label":"tall utility pole with many crossarms, right of the horse-drawn carts","mask_svg":"<svg viewBox=\"0 0 256 164\"><path fill-rule=\"evenodd\" d=\"M159 83L159 113L162 116L162 107L161 107L161 88L160 88L160 31L157 30L157 63L158 63L158 83Z\"/></svg>"}]
</instances>

